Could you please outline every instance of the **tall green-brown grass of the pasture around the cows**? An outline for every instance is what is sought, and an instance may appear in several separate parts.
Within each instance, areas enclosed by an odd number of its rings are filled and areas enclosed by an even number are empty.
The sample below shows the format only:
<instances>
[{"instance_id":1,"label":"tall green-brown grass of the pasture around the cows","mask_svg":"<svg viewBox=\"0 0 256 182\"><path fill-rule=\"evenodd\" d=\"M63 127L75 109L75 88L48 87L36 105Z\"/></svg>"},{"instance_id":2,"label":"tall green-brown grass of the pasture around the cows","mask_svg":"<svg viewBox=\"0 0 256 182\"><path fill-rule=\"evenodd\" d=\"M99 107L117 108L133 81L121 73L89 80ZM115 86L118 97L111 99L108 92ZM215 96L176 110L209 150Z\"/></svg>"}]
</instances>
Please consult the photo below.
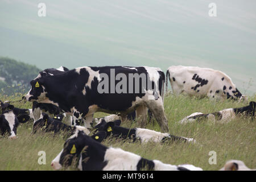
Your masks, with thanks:
<instances>
[{"instance_id":1,"label":"tall green-brown grass of the pasture around the cows","mask_svg":"<svg viewBox=\"0 0 256 182\"><path fill-rule=\"evenodd\" d=\"M0 100L19 100L17 94L13 97L0 96ZM134 152L147 159L158 159L168 164L193 164L204 170L218 170L229 159L243 160L249 168L256 167L256 124L251 119L235 119L229 123L177 123L185 116L200 111L211 113L230 107L241 107L256 101L256 95L249 97L247 102L209 101L185 96L169 95L164 98L164 108L172 135L195 138L200 144L166 143L141 144L121 142L119 140L104 140L106 146L119 147ZM16 107L31 108L31 103L14 102ZM105 113L96 113L94 117L102 117ZM65 140L62 135L52 137L50 134L37 133L32 135L32 121L20 124L18 138L11 140L0 138L0 170L52 170L51 161L63 148ZM137 123L124 122L124 127L137 127ZM150 122L147 129L160 131L158 124ZM46 164L39 164L39 151L46 152ZM217 164L209 164L210 151L217 154Z\"/></svg>"}]
</instances>

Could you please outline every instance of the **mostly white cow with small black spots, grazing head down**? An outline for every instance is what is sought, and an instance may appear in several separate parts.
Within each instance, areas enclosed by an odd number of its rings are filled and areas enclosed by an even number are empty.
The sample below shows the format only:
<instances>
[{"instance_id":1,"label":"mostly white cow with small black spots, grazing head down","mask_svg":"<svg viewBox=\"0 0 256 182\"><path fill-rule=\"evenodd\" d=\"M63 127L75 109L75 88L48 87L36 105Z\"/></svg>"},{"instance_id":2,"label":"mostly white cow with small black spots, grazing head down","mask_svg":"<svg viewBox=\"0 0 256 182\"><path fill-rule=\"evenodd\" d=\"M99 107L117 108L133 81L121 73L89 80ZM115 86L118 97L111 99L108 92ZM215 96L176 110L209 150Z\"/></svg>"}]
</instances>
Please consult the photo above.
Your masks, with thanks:
<instances>
[{"instance_id":1,"label":"mostly white cow with small black spots, grazing head down","mask_svg":"<svg viewBox=\"0 0 256 182\"><path fill-rule=\"evenodd\" d=\"M245 99L231 78L221 71L210 68L171 66L167 69L166 78L169 78L175 94L187 94L209 98ZM167 92L166 79L166 92Z\"/></svg>"}]
</instances>

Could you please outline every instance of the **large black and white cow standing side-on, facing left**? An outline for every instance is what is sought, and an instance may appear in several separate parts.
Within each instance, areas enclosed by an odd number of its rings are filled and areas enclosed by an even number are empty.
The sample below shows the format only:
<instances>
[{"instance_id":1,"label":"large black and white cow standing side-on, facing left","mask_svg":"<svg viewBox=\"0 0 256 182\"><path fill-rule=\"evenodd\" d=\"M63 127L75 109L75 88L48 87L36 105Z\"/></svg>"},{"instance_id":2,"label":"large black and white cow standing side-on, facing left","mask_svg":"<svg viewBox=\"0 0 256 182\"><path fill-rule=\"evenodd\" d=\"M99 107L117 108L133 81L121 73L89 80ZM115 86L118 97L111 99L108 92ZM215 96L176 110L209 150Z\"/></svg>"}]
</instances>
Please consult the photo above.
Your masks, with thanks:
<instances>
[{"instance_id":1,"label":"large black and white cow standing side-on, facing left","mask_svg":"<svg viewBox=\"0 0 256 182\"><path fill-rule=\"evenodd\" d=\"M96 111L126 117L136 110L139 122L145 125L148 107L160 129L168 131L163 87L159 90L159 85L164 84L164 73L159 68L80 67L59 75L44 74L40 72L31 81L27 101L56 105L72 114L74 122L86 118L85 127L90 127Z\"/></svg>"}]
</instances>

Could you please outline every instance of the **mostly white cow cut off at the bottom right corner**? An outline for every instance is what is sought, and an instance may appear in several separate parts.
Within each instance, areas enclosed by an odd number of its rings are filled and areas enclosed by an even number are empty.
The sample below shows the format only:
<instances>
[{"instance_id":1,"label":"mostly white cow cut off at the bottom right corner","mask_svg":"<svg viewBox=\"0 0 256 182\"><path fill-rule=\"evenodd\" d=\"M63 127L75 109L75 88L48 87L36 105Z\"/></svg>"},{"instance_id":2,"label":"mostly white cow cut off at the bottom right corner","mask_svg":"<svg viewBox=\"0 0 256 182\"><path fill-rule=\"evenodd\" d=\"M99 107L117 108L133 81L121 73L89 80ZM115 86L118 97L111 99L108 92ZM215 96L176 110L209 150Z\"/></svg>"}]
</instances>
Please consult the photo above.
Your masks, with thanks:
<instances>
[{"instance_id":1,"label":"mostly white cow cut off at the bottom right corner","mask_svg":"<svg viewBox=\"0 0 256 182\"><path fill-rule=\"evenodd\" d=\"M255 171L256 169L250 169L245 166L241 160L229 160L220 171Z\"/></svg>"}]
</instances>

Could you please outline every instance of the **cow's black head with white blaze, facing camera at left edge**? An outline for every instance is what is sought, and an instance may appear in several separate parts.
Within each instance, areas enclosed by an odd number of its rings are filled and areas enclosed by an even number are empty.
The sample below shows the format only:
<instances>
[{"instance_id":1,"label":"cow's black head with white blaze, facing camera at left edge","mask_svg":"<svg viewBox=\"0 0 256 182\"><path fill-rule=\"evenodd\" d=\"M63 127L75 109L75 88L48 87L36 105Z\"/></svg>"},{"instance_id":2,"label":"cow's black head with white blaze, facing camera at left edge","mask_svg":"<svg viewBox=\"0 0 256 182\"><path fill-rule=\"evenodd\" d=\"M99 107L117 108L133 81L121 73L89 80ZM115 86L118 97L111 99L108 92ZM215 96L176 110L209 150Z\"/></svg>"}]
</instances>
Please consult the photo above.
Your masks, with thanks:
<instances>
[{"instance_id":1,"label":"cow's black head with white blaze, facing camera at left edge","mask_svg":"<svg viewBox=\"0 0 256 182\"><path fill-rule=\"evenodd\" d=\"M14 106L6 106L6 110L0 114L1 135L9 134L9 138L16 138L17 127L19 123L25 123L30 119L28 114L14 114Z\"/></svg>"}]
</instances>

